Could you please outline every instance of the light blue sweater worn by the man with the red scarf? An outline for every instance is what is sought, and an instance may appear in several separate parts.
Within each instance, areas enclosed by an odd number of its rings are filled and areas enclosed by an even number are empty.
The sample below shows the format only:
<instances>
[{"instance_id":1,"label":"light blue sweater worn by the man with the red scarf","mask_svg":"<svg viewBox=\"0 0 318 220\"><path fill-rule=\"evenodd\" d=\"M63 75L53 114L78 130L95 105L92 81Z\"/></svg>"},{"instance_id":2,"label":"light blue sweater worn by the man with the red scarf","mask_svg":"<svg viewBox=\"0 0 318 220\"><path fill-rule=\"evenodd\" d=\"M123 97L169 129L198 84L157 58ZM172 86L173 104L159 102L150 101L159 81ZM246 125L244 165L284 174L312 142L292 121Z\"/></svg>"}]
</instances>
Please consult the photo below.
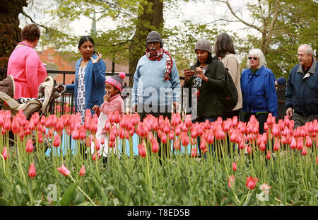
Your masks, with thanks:
<instances>
[{"instance_id":1,"label":"light blue sweater worn by the man with the red scarf","mask_svg":"<svg viewBox=\"0 0 318 220\"><path fill-rule=\"evenodd\" d=\"M177 65L173 61L170 80L164 81L167 54L163 59L150 60L146 55L139 59L134 74L134 86L132 91L132 104L137 103L153 105L171 105L180 101L181 86Z\"/></svg>"}]
</instances>

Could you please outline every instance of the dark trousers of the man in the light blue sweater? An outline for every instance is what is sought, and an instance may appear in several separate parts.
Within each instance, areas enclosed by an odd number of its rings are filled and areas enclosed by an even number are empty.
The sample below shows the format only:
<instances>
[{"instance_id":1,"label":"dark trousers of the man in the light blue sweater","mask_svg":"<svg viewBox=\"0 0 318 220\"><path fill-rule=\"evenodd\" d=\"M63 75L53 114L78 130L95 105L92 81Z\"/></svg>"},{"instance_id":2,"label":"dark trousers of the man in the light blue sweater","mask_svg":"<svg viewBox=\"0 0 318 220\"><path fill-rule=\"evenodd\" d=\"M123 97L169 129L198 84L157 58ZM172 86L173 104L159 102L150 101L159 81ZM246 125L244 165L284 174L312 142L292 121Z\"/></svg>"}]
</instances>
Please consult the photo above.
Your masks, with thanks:
<instances>
[{"instance_id":1,"label":"dark trousers of the man in the light blue sweater","mask_svg":"<svg viewBox=\"0 0 318 220\"><path fill-rule=\"evenodd\" d=\"M145 117L147 117L147 115L153 115L155 117L160 117L160 115L163 115L163 119L165 119L165 117L167 117L169 120L171 120L171 108L170 106L158 106L158 105L151 105L150 106L153 110L151 110L150 112L146 111L145 108L143 108L142 112L138 112L138 114L140 115L140 120L141 122L143 122L143 119ZM168 137L167 137L168 138ZM160 146L161 144L161 139L160 137L158 137L157 135L157 141L158 144ZM163 144L163 147L159 147L159 151L158 151L158 156L159 158L163 157L169 157L170 156L170 146L168 146L167 144ZM150 154L151 154L151 150L150 150Z\"/></svg>"}]
</instances>

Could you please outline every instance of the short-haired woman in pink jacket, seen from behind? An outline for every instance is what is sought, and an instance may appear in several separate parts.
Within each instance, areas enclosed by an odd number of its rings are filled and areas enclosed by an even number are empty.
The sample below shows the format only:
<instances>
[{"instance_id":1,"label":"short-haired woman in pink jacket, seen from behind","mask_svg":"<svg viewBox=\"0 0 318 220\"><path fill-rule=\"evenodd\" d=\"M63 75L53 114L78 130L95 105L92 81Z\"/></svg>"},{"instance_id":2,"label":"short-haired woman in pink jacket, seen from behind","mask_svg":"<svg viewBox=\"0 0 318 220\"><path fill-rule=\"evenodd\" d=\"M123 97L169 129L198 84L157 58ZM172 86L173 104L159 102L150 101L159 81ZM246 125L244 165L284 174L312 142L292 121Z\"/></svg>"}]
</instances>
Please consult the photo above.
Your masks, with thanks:
<instances>
[{"instance_id":1,"label":"short-haired woman in pink jacket, seen from behind","mask_svg":"<svg viewBox=\"0 0 318 220\"><path fill-rule=\"evenodd\" d=\"M14 98L37 98L40 83L47 76L47 69L34 50L40 39L40 28L36 24L25 25L19 42L8 60L7 75L13 76Z\"/></svg>"}]
</instances>

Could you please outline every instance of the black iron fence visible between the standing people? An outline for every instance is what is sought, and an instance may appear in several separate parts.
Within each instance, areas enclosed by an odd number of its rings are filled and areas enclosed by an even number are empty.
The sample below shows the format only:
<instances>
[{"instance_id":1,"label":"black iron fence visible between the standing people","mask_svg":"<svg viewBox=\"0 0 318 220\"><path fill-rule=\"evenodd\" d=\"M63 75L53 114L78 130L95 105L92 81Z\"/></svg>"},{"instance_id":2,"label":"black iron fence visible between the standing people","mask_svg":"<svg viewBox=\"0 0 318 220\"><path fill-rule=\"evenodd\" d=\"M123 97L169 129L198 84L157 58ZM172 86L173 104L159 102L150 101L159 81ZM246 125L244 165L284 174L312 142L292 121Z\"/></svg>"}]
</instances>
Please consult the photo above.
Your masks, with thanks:
<instances>
[{"instance_id":1,"label":"black iron fence visible between the standing people","mask_svg":"<svg viewBox=\"0 0 318 220\"><path fill-rule=\"evenodd\" d=\"M47 73L49 75L54 74L62 74L63 78L61 83L66 83L66 75L71 74L75 75L75 71L59 71L59 70L47 70ZM112 73L112 72L106 72L106 76L113 76L114 74L118 73ZM0 68L0 75L6 76L6 68ZM4 79L3 77L3 79ZM126 74L126 77L129 77L129 81L134 80L134 74ZM75 76L74 76L75 79ZM180 81L183 84L184 77L180 77ZM54 83L56 83L54 81ZM72 82L73 83L73 82ZM124 88L128 87L129 85L124 84ZM277 91L277 98L278 98L278 117L277 119L283 119L285 115L285 86L278 85L276 86ZM124 96L124 103L125 103L125 109L129 108L129 93ZM57 98L54 103L51 103L51 114L57 114L57 115L64 115L67 113L73 114L75 112L75 106L74 106L74 94L73 92L66 91L61 97ZM181 112L184 110L184 91L182 89L182 99L181 99Z\"/></svg>"}]
</instances>

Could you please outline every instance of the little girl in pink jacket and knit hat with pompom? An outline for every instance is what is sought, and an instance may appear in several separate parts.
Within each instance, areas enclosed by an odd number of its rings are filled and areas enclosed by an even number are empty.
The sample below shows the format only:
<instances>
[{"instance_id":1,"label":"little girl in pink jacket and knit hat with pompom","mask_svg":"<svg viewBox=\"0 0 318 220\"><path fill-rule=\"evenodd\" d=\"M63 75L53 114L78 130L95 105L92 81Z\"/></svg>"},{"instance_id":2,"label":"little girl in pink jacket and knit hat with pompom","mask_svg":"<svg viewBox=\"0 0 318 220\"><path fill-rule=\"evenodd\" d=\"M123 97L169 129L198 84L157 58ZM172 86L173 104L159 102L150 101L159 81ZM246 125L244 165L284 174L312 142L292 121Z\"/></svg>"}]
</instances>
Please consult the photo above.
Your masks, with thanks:
<instances>
[{"instance_id":1,"label":"little girl in pink jacket and knit hat with pompom","mask_svg":"<svg viewBox=\"0 0 318 220\"><path fill-rule=\"evenodd\" d=\"M98 117L98 130L96 132L96 138L100 141L102 138L105 139L105 144L100 144L100 150L98 154L103 157L107 157L108 144L107 144L107 132L105 130L105 122L107 120L108 112L119 112L119 115L124 115L124 100L120 95L122 91L122 79L125 74L121 72L119 75L114 75L110 79L105 81L106 95L104 95L104 103L99 107L98 105L93 106L93 110L96 112ZM114 153L117 152L117 148L114 147ZM94 142L91 143L91 153L95 153ZM102 155L101 155L102 154Z\"/></svg>"}]
</instances>

